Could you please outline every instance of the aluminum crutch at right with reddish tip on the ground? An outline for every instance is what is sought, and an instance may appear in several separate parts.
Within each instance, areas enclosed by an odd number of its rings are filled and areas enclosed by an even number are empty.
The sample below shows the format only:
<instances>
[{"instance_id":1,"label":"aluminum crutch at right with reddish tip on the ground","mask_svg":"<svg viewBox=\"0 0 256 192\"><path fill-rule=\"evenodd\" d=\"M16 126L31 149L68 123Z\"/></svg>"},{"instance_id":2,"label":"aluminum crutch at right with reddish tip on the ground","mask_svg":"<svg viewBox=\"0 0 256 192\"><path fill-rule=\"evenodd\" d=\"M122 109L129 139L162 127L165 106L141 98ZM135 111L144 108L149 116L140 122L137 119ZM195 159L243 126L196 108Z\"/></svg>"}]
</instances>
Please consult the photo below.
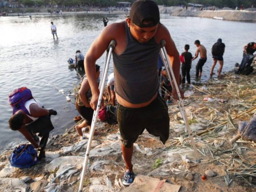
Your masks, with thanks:
<instances>
[{"instance_id":1,"label":"aluminum crutch at right with reddish tip on the ground","mask_svg":"<svg viewBox=\"0 0 256 192\"><path fill-rule=\"evenodd\" d=\"M178 95L177 103L178 103L178 107L179 107L179 110L180 110L181 115L183 117L183 120L185 122L187 131L189 133L189 138L191 140L191 144L192 144L195 156L196 156L196 162L197 162L197 164L199 166L199 169L200 169L200 172L201 172L201 178L202 178L203 181L206 181L207 178L206 178L206 175L204 174L204 171L203 171L202 166L201 166L201 160L199 158L199 155L198 155L198 152L197 152L197 149L196 149L196 144L195 144L195 141L194 141L194 138L193 138L193 134L191 132L189 121L188 121L188 118L187 118L187 113L185 111L184 103L183 103L183 100L181 98L181 94L179 92L179 86L178 86L177 81L175 79L175 76L174 76L174 73L173 73L173 69L171 67L171 63L170 63L169 57L168 57L166 49L165 49L165 44L166 44L165 40L161 40L160 55L161 55L163 64L165 66L167 75L169 77L169 80L170 80L170 82L173 80L174 86L175 86L175 88L177 90L177 95ZM171 86L172 86L172 88L174 88L172 83L171 83Z\"/></svg>"}]
</instances>

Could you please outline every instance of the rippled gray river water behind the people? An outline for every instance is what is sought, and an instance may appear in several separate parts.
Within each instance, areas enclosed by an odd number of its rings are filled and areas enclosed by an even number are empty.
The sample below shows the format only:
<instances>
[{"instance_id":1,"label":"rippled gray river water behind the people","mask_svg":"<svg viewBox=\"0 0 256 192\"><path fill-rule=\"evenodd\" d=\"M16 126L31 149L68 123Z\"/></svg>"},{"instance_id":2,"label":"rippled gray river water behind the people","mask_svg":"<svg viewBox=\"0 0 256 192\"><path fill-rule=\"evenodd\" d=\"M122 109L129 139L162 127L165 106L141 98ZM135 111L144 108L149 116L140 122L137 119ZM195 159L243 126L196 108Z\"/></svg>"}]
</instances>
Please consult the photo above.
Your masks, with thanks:
<instances>
[{"instance_id":1,"label":"rippled gray river water behind the people","mask_svg":"<svg viewBox=\"0 0 256 192\"><path fill-rule=\"evenodd\" d=\"M125 19L125 15L63 15L0 17L0 149L11 143L20 143L24 137L18 131L9 129L8 119L12 109L8 94L15 88L26 86L34 98L46 108L52 108L58 115L52 116L55 129L52 134L63 133L74 125L73 117L78 115L74 98L66 101L64 96L73 92L79 84L77 71L68 68L67 59L74 58L75 51L86 53L93 40L103 29L102 17L109 23ZM57 26L59 40L54 41L50 22ZM243 46L255 41L255 23L231 22L197 17L173 17L161 15L160 20L170 31L178 51L183 52L185 44L191 46L194 55L194 41L199 39L208 50L208 60L203 67L202 81L209 78L212 58L210 49L218 38L226 44L223 71L230 71L234 63L240 62ZM103 65L103 57L97 64ZM191 78L194 81L196 61L192 63ZM216 66L215 72L218 69ZM101 69L102 70L102 69ZM113 71L110 65L109 73ZM64 94L58 90L64 90Z\"/></svg>"}]
</instances>

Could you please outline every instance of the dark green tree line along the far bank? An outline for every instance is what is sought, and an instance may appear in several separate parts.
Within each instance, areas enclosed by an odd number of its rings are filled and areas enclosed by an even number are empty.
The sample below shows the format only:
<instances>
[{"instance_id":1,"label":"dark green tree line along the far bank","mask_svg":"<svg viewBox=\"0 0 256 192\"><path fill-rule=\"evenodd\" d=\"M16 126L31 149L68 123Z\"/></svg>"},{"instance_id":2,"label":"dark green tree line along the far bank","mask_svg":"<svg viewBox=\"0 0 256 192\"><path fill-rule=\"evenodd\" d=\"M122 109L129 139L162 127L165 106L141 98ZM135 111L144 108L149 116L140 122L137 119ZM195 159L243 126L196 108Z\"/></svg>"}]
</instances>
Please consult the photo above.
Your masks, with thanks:
<instances>
[{"instance_id":1,"label":"dark green tree line along the far bank","mask_svg":"<svg viewBox=\"0 0 256 192\"><path fill-rule=\"evenodd\" d=\"M118 0L18 0L19 3L27 6L37 5L81 5L81 6L116 6ZM124 0L127 2L134 2L134 0ZM256 0L155 0L158 5L166 6L177 6L177 5L186 5L187 3L197 3L203 5L212 5L216 7L240 7L243 5L244 8L256 7Z\"/></svg>"}]
</instances>

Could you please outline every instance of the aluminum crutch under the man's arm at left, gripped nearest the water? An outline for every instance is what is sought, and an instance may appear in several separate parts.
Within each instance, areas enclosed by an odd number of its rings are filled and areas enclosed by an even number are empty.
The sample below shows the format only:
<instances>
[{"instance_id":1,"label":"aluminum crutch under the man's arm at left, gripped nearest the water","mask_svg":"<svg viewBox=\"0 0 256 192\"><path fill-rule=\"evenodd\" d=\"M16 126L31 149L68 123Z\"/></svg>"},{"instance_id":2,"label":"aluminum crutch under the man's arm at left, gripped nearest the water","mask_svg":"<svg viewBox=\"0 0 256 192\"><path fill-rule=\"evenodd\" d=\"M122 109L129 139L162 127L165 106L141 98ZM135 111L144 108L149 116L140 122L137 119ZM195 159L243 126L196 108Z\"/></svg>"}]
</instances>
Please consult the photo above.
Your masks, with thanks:
<instances>
[{"instance_id":1,"label":"aluminum crutch under the man's arm at left, gripped nearest the water","mask_svg":"<svg viewBox=\"0 0 256 192\"><path fill-rule=\"evenodd\" d=\"M88 160L89 160L89 153L90 153L90 149L91 149L91 143L93 141L95 125L96 125L96 122L97 122L97 116L98 116L100 106L101 106L101 98L103 96L103 90L104 90L104 85L105 85L106 78L107 78L107 73L108 73L108 67L109 67L109 63L110 63L111 54L112 54L112 51L115 48L115 46L116 46L116 41L111 40L111 42L108 46L108 49L107 49L105 60L104 60L103 74L101 75L102 79L101 79L101 82L99 84L99 90L100 90L99 100L98 100L96 111L93 112L91 131L90 131L90 136L89 136L88 143L87 143L87 149L86 149L86 152L85 152L85 160L83 162L83 170L82 170L82 173L81 173L81 179L80 179L80 184L79 184L79 192L82 192L82 190L83 190L83 181L84 181L85 174L86 174L87 164L88 164Z\"/></svg>"}]
</instances>

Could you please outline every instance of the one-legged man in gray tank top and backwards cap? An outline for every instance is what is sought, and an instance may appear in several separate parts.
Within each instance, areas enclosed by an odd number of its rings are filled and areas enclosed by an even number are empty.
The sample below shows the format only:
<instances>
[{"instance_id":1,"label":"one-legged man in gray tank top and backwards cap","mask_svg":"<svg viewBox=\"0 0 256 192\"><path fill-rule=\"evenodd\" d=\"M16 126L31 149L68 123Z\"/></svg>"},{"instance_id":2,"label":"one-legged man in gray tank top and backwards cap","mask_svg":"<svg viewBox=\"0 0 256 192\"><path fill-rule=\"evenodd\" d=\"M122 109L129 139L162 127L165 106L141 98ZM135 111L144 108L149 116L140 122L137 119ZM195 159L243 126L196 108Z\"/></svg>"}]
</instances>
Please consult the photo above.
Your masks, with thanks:
<instances>
[{"instance_id":1,"label":"one-legged man in gray tank top and backwards cap","mask_svg":"<svg viewBox=\"0 0 256 192\"><path fill-rule=\"evenodd\" d=\"M157 61L165 40L175 79L179 84L180 59L169 31L159 23L159 9L154 1L138 0L132 4L126 21L106 26L89 48L85 57L85 72L92 90L91 107L96 110L99 87L95 62L114 39L113 51L117 120L121 134L121 148L125 162L123 184L134 180L133 143L146 128L160 137L163 144L169 137L169 114L164 100L159 96ZM180 88L179 88L180 89ZM180 89L181 97L183 91ZM177 99L174 87L172 94Z\"/></svg>"}]
</instances>

